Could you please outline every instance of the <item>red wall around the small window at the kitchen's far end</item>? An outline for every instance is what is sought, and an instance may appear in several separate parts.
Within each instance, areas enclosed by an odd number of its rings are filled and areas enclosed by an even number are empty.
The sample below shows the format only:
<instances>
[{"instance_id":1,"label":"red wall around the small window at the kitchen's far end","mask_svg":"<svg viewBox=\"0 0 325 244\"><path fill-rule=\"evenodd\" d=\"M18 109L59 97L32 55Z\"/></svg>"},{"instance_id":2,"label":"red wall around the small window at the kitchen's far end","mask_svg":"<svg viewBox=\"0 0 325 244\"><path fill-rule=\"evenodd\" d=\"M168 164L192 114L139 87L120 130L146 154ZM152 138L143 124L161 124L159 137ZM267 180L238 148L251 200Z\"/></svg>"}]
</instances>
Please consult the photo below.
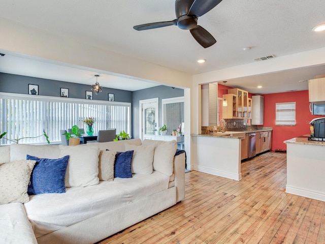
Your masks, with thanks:
<instances>
[{"instance_id":1,"label":"red wall around the small window at the kitchen's far end","mask_svg":"<svg viewBox=\"0 0 325 244\"><path fill-rule=\"evenodd\" d=\"M298 92L265 94L264 96L264 127L273 127L272 150L284 149L283 141L310 134L309 122L316 117L309 111L308 90ZM296 102L296 126L275 126L275 103Z\"/></svg>"}]
</instances>

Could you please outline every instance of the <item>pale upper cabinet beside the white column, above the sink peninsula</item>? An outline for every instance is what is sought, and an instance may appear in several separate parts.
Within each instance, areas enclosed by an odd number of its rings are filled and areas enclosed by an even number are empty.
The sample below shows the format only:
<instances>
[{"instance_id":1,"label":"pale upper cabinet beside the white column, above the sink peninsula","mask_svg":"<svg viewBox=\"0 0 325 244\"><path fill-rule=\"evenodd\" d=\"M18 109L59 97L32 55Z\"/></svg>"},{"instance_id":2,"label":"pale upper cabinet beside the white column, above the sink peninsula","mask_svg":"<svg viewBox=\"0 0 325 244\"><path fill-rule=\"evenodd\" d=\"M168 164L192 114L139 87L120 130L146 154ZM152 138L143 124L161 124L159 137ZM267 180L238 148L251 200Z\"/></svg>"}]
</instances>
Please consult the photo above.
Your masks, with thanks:
<instances>
[{"instance_id":1,"label":"pale upper cabinet beside the white column, above the sink peninsula","mask_svg":"<svg viewBox=\"0 0 325 244\"><path fill-rule=\"evenodd\" d=\"M217 126L217 90L215 83L201 85L202 126Z\"/></svg>"}]
</instances>

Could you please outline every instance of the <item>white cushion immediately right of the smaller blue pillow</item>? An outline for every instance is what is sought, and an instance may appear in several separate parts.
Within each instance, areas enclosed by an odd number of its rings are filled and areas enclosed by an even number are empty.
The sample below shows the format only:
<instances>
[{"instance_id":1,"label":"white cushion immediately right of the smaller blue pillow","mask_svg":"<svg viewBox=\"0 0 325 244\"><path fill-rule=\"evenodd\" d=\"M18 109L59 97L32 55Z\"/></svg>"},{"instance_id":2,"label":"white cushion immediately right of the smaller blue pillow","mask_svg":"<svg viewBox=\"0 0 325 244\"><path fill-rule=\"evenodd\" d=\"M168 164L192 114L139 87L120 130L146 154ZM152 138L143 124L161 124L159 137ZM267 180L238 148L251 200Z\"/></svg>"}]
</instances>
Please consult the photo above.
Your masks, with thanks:
<instances>
[{"instance_id":1,"label":"white cushion immediately right of the smaller blue pillow","mask_svg":"<svg viewBox=\"0 0 325 244\"><path fill-rule=\"evenodd\" d=\"M153 162L153 146L136 146L125 144L125 150L134 150L131 170L134 174L151 174Z\"/></svg>"}]
</instances>

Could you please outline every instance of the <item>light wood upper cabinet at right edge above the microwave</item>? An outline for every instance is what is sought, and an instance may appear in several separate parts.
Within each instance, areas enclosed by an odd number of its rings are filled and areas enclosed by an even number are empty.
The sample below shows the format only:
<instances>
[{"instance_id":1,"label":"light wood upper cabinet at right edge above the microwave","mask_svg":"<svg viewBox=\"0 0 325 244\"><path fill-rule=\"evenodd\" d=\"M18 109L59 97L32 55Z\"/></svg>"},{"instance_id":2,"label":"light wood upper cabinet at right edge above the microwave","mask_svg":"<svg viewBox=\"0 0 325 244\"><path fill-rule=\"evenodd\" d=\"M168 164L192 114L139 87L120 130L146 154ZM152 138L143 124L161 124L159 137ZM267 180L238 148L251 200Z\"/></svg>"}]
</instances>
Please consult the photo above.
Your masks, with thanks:
<instances>
[{"instance_id":1,"label":"light wood upper cabinet at right edge above the microwave","mask_svg":"<svg viewBox=\"0 0 325 244\"><path fill-rule=\"evenodd\" d=\"M325 78L308 81L309 102L317 105L325 104Z\"/></svg>"}]
</instances>

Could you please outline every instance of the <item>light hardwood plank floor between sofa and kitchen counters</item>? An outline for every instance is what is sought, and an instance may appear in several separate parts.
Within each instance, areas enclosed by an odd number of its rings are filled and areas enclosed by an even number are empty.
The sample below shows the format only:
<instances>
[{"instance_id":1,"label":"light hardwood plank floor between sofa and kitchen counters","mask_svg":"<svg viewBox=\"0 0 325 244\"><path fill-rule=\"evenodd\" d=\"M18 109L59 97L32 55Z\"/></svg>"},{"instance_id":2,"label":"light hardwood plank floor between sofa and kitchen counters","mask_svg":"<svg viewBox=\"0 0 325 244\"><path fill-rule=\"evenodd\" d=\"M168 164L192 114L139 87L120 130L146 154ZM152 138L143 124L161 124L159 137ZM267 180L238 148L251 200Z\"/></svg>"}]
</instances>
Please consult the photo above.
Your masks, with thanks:
<instances>
[{"instance_id":1,"label":"light hardwood plank floor between sofa and kitchen counters","mask_svg":"<svg viewBox=\"0 0 325 244\"><path fill-rule=\"evenodd\" d=\"M285 193L284 153L243 162L242 177L188 172L182 202L100 243L325 243L325 202Z\"/></svg>"}]
</instances>

